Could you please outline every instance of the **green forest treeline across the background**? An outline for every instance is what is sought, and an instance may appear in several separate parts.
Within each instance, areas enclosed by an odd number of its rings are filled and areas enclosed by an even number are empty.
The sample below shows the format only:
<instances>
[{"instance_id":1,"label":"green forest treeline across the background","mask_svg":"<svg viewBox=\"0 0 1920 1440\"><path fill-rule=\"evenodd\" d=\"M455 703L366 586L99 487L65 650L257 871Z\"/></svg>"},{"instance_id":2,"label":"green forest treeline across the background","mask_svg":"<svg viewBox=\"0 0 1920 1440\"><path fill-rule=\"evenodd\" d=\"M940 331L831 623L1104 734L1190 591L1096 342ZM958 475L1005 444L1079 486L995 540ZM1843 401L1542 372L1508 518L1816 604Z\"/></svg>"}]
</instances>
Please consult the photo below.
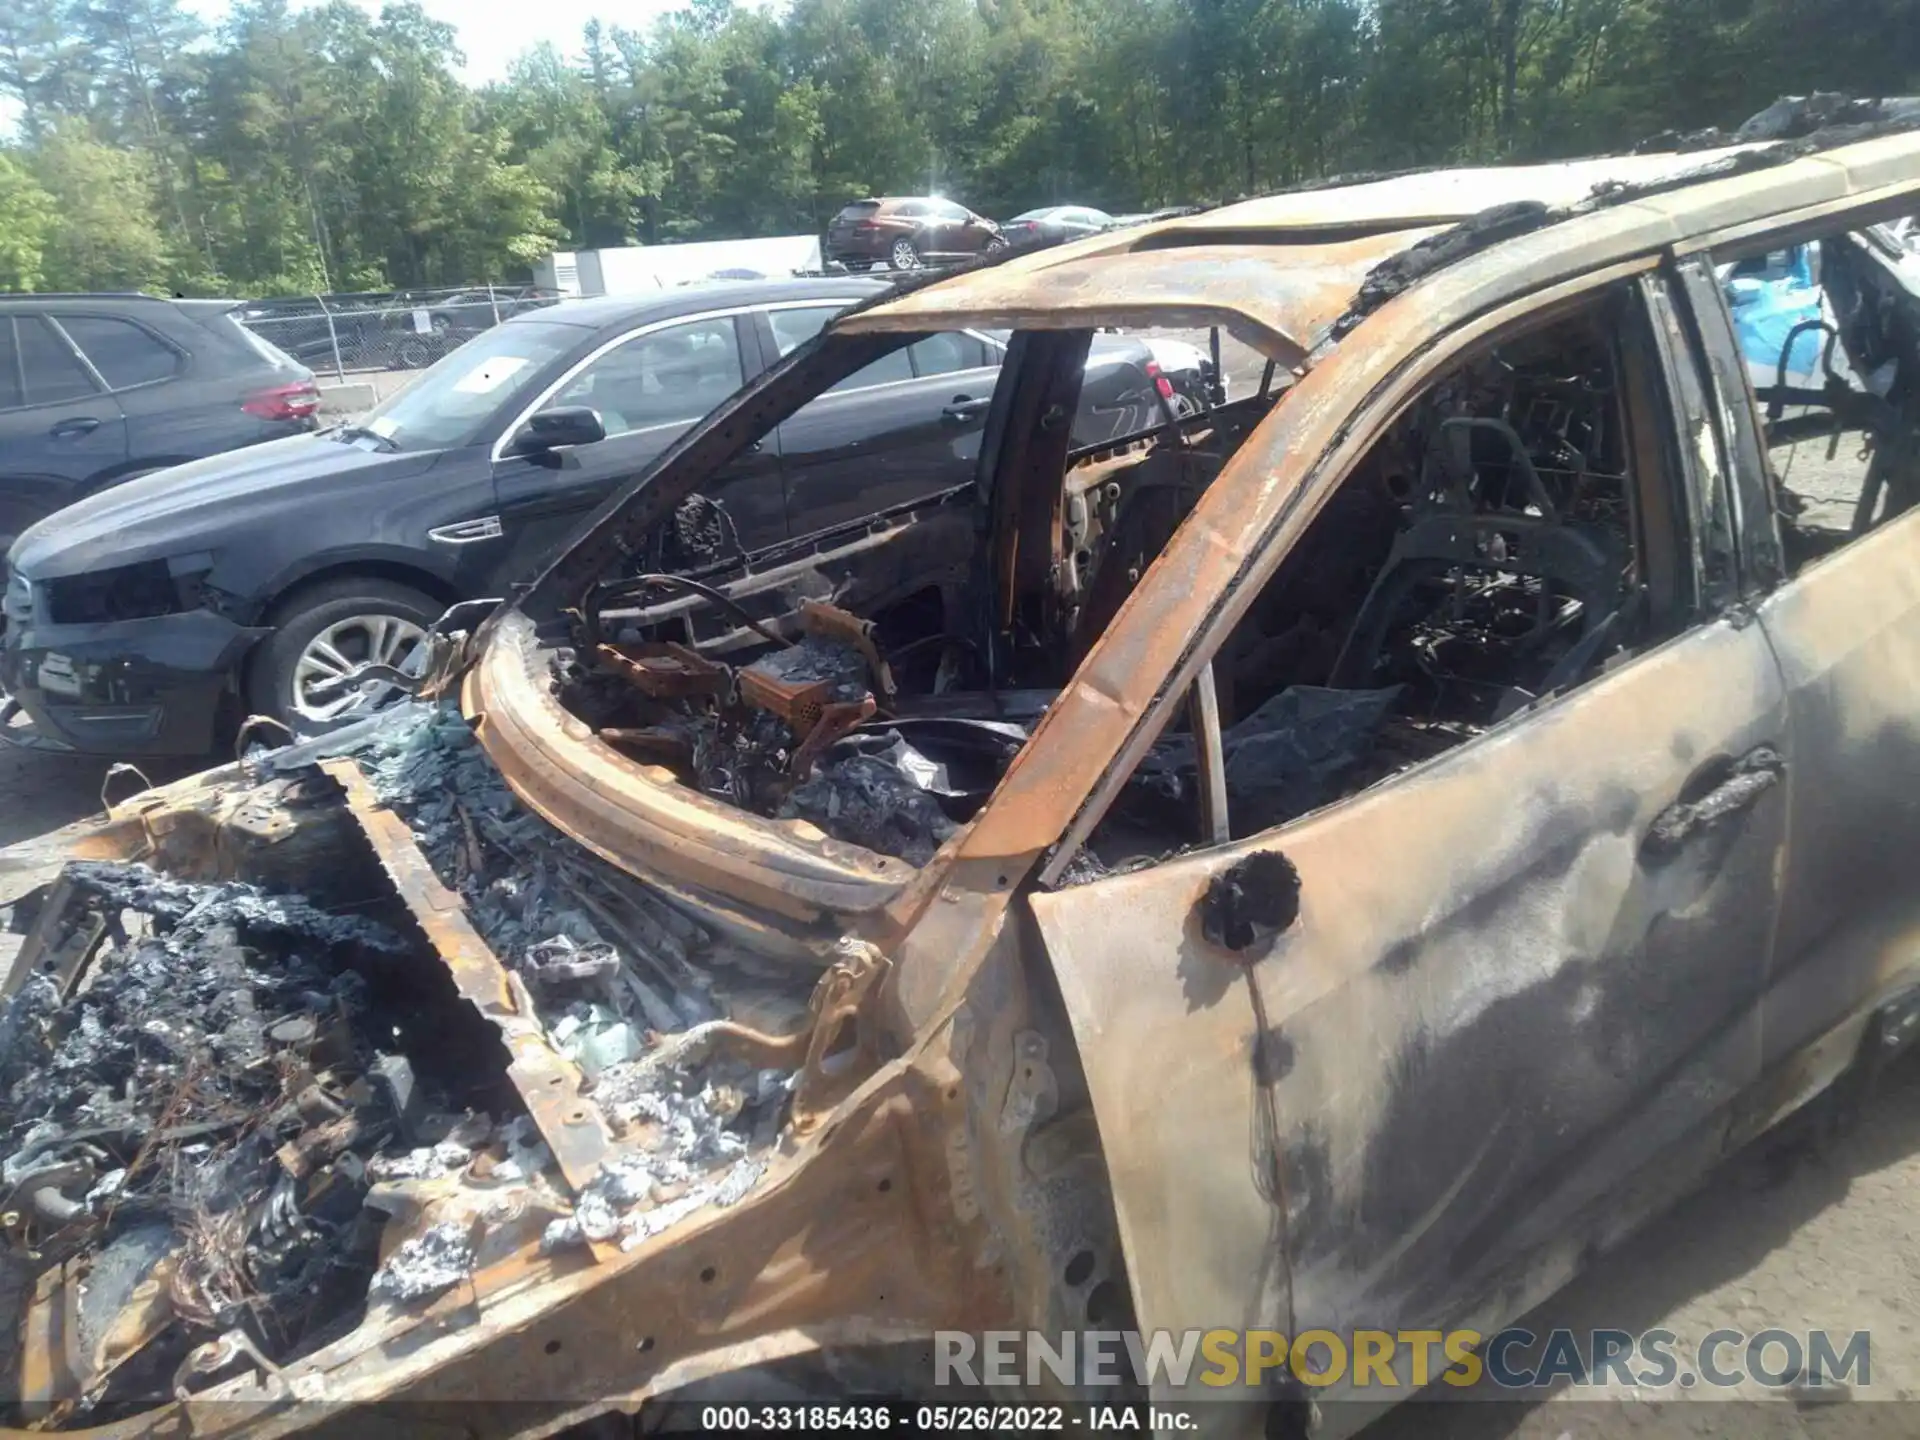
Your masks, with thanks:
<instances>
[{"instance_id":1,"label":"green forest treeline across the background","mask_svg":"<svg viewBox=\"0 0 1920 1440\"><path fill-rule=\"evenodd\" d=\"M459 69L411 2L4 0L0 288L470 284L864 194L1119 211L1597 152L1914 92L1920 0L691 0Z\"/></svg>"}]
</instances>

